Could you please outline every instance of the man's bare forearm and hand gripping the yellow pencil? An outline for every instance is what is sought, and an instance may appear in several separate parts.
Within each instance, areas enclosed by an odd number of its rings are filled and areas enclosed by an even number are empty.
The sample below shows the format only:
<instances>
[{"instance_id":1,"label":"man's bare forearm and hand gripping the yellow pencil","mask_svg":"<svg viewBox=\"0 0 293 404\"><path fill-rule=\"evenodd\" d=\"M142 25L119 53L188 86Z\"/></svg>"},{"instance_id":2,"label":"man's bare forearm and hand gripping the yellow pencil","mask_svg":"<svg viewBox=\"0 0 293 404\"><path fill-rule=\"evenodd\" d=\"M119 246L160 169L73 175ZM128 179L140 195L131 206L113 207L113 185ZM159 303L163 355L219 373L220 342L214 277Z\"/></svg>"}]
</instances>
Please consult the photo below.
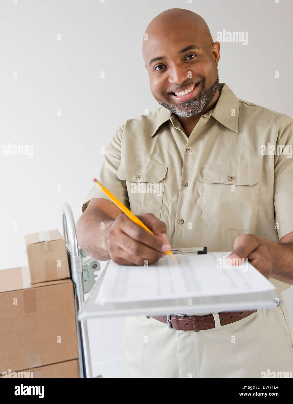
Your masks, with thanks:
<instances>
[{"instance_id":1,"label":"man's bare forearm and hand gripping the yellow pencil","mask_svg":"<svg viewBox=\"0 0 293 404\"><path fill-rule=\"evenodd\" d=\"M138 217L154 234L133 223L113 202L93 198L76 224L78 244L100 261L112 259L120 265L144 265L145 260L153 263L171 248L167 227L152 213Z\"/></svg>"}]
</instances>

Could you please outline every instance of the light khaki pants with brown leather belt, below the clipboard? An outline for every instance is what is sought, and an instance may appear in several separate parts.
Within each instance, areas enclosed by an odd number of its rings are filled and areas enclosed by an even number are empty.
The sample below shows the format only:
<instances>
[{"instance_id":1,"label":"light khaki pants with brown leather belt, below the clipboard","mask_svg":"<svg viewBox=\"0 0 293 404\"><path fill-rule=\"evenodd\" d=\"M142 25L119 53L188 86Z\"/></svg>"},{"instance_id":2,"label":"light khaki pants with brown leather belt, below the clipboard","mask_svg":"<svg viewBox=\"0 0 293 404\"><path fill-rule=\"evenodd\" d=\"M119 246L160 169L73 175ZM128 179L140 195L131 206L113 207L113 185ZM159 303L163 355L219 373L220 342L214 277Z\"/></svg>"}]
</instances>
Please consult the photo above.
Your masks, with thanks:
<instances>
[{"instance_id":1,"label":"light khaki pants with brown leather belt, below the clipboard","mask_svg":"<svg viewBox=\"0 0 293 404\"><path fill-rule=\"evenodd\" d=\"M259 309L232 324L199 332L171 330L152 317L126 317L124 375L267 377L261 372L266 375L289 372L290 376L292 344L292 330L283 304L276 309Z\"/></svg>"}]
</instances>

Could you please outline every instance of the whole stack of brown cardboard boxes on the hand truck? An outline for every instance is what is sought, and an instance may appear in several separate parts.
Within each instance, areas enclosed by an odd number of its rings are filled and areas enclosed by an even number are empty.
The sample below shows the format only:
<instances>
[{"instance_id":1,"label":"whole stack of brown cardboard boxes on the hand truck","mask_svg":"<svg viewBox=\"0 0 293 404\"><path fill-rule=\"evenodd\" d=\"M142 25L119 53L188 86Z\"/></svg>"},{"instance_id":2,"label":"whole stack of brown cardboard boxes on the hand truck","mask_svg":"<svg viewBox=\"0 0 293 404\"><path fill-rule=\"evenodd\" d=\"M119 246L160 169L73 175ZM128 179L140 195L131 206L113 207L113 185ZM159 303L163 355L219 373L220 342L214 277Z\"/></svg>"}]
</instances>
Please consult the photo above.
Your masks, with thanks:
<instances>
[{"instance_id":1,"label":"whole stack of brown cardboard boxes on the hand truck","mask_svg":"<svg viewBox=\"0 0 293 404\"><path fill-rule=\"evenodd\" d=\"M0 377L79 377L74 290L56 232L25 236L29 268L0 270Z\"/></svg>"}]
</instances>

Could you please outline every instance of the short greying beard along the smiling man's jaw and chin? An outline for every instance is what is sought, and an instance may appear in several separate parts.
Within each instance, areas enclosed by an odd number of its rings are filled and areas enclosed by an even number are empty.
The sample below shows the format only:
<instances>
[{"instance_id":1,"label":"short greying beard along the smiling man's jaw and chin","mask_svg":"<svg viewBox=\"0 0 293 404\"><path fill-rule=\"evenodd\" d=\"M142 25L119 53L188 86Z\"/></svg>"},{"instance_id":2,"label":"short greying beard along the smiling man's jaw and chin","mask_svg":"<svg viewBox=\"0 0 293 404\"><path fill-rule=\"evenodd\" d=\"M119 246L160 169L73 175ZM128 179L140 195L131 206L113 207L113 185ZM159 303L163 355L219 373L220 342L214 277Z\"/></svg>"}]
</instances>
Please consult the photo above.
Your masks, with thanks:
<instances>
[{"instance_id":1,"label":"short greying beard along the smiling man's jaw and chin","mask_svg":"<svg viewBox=\"0 0 293 404\"><path fill-rule=\"evenodd\" d=\"M217 69L218 72L218 69ZM217 80L207 90L202 90L198 98L185 101L181 104L167 104L160 102L162 107L169 109L173 114L181 116L182 118L191 118L200 114L204 108L206 108L213 99L217 89L219 87L219 73L217 74Z\"/></svg>"}]
</instances>

